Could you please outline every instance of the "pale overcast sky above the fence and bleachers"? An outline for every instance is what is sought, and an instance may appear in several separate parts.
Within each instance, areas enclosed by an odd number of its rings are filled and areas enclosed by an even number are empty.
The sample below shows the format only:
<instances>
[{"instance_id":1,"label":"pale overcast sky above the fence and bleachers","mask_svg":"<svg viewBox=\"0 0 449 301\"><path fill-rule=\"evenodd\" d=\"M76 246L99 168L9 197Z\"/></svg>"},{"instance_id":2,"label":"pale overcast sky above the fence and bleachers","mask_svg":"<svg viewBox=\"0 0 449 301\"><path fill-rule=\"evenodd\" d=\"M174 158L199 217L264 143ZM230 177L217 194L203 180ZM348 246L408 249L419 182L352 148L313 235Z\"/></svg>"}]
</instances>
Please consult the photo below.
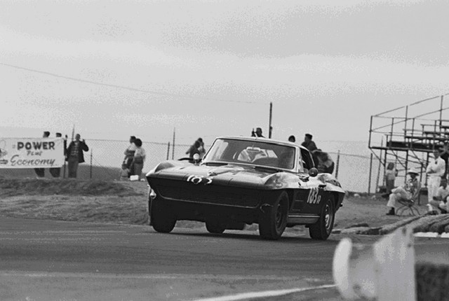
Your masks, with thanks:
<instances>
[{"instance_id":1,"label":"pale overcast sky above the fence and bleachers","mask_svg":"<svg viewBox=\"0 0 449 301\"><path fill-rule=\"evenodd\" d=\"M0 2L0 137L368 141L449 92L448 1Z\"/></svg>"}]
</instances>

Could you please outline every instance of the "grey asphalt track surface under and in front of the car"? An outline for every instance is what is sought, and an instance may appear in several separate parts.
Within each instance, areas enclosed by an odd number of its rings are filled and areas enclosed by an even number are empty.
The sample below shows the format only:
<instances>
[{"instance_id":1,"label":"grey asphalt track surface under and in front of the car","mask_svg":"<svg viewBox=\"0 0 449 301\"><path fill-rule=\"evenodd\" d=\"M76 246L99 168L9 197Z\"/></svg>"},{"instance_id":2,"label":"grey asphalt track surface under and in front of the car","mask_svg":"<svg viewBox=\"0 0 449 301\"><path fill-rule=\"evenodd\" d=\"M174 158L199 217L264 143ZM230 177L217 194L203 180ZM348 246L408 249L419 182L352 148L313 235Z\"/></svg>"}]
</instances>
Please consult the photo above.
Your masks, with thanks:
<instances>
[{"instance_id":1,"label":"grey asphalt track surface under and in front of the car","mask_svg":"<svg viewBox=\"0 0 449 301\"><path fill-rule=\"evenodd\" d=\"M4 217L0 225L0 300L341 300L331 270L338 236L265 241L255 231L161 234L147 225ZM446 241L420 239L417 255L447 260ZM238 299L279 290L293 293Z\"/></svg>"}]
</instances>

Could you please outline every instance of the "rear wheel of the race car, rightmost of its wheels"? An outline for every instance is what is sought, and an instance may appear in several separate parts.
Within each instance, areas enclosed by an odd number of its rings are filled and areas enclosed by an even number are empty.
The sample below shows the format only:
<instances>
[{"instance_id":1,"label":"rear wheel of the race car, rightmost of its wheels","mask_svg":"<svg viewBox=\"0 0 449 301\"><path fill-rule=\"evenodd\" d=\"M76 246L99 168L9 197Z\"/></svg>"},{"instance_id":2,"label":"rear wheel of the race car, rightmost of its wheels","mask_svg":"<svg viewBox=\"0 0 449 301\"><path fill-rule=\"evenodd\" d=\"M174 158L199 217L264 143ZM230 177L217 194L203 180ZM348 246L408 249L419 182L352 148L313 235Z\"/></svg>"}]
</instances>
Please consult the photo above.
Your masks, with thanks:
<instances>
[{"instance_id":1,"label":"rear wheel of the race car, rightmost of its wheels","mask_svg":"<svg viewBox=\"0 0 449 301\"><path fill-rule=\"evenodd\" d=\"M334 197L330 195L323 208L320 218L309 226L309 235L312 239L326 240L332 232L335 220Z\"/></svg>"}]
</instances>

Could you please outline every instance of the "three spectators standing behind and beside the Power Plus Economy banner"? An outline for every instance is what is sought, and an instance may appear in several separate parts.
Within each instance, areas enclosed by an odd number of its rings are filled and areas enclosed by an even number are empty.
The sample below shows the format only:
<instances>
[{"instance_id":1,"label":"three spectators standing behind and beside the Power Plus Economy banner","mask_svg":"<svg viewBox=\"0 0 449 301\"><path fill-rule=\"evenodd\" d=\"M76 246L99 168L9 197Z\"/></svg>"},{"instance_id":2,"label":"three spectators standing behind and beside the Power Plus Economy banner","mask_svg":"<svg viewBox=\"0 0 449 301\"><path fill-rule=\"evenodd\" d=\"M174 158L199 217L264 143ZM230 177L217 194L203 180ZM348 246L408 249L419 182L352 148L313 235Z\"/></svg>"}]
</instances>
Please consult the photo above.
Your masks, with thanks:
<instances>
[{"instance_id":1,"label":"three spectators standing behind and beside the Power Plus Economy banner","mask_svg":"<svg viewBox=\"0 0 449 301\"><path fill-rule=\"evenodd\" d=\"M50 132L45 131L43 132L43 138L50 137ZM56 133L55 137L62 138L61 133ZM83 139L81 140L80 134L75 135L75 140L70 142L69 146L67 146L67 135L65 135L64 138L64 157L65 161L67 161L67 168L69 170L68 177L69 178L76 178L76 174L78 172L78 165L79 163L84 162L84 155L83 152L89 151L89 148L86 144L86 141ZM53 178L59 178L61 174L61 168L60 167L52 167L50 170L51 176ZM43 178L45 176L45 169L43 168L35 168L34 172L36 172L36 175L38 178Z\"/></svg>"}]
</instances>

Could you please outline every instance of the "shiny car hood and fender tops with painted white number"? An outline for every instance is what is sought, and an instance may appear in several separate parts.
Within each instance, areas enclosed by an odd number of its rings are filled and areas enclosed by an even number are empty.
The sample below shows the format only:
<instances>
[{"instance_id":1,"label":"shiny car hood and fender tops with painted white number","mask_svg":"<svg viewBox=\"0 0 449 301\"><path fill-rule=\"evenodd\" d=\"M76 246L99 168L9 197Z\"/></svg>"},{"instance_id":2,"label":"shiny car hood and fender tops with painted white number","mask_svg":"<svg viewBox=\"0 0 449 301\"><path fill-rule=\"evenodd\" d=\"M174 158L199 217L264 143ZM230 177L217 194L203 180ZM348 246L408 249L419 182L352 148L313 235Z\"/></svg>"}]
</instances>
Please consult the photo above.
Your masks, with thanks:
<instances>
[{"instance_id":1,"label":"shiny car hood and fender tops with painted white number","mask_svg":"<svg viewBox=\"0 0 449 301\"><path fill-rule=\"evenodd\" d=\"M161 163L154 171L147 174L147 179L170 179L189 181L203 185L241 186L246 188L270 188L274 179L295 181L297 176L275 169L264 169L245 165L206 166L167 161ZM151 183L150 183L151 185Z\"/></svg>"}]
</instances>

